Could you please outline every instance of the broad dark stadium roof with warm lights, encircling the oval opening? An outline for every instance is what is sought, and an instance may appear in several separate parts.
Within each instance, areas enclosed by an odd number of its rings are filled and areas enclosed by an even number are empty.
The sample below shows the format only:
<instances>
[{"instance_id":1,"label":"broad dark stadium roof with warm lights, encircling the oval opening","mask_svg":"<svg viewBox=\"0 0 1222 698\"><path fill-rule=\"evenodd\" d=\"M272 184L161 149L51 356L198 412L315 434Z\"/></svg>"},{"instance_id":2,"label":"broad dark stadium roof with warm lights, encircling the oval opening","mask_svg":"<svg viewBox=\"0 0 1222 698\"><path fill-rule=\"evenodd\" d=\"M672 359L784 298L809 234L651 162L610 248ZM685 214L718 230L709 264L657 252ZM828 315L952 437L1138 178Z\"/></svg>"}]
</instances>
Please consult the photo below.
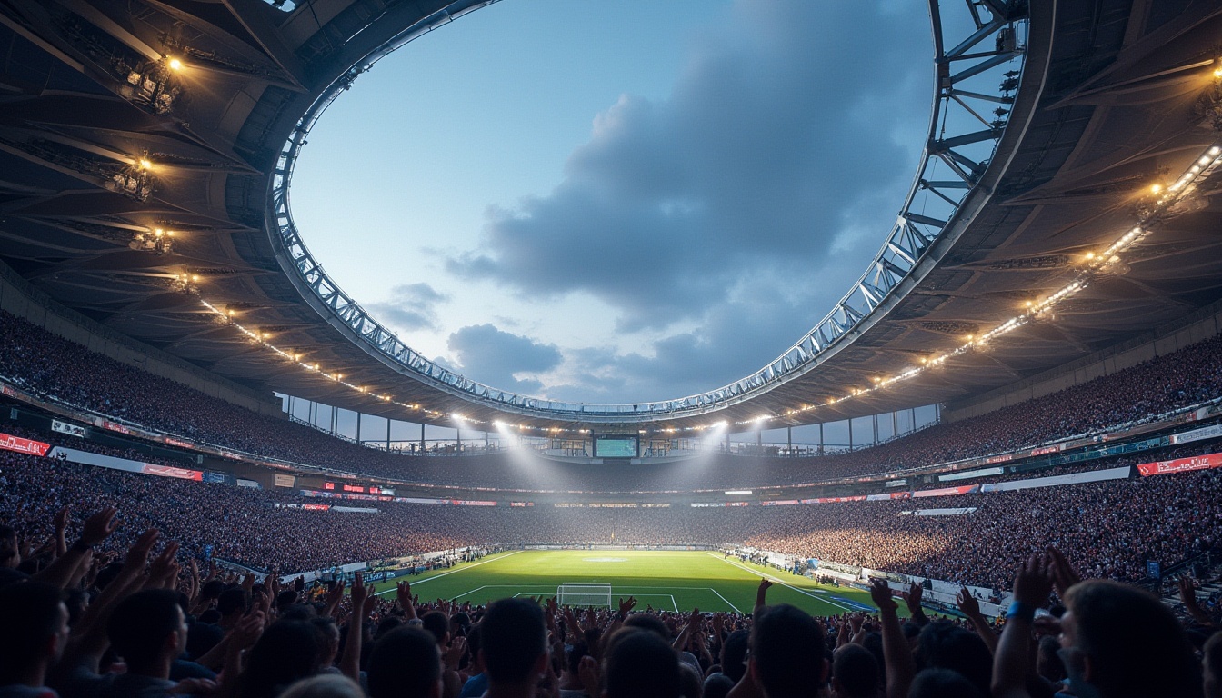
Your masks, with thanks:
<instances>
[{"instance_id":1,"label":"broad dark stadium roof with warm lights, encircling the oval opening","mask_svg":"<svg viewBox=\"0 0 1222 698\"><path fill-rule=\"evenodd\" d=\"M252 388L485 428L780 427L962 399L1222 297L1222 9L981 0L964 21L951 16L964 4L935 0L923 169L879 257L809 335L753 377L662 403L473 384L381 334L325 277L287 197L331 99L485 4L0 5L0 259L105 326ZM985 78L989 90L971 82Z\"/></svg>"}]
</instances>

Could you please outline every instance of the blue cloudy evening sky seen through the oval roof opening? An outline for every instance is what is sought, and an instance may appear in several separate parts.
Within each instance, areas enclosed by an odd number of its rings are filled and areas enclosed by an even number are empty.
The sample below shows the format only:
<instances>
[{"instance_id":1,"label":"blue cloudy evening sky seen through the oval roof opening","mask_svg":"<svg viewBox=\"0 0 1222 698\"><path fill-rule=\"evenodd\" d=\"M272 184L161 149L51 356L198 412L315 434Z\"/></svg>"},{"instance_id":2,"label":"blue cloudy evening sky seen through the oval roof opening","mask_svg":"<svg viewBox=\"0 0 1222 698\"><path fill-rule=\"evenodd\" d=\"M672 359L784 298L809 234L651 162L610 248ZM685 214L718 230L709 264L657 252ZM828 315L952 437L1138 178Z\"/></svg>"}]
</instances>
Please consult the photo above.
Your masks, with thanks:
<instances>
[{"instance_id":1,"label":"blue cloudy evening sky seen through the oval roof opening","mask_svg":"<svg viewBox=\"0 0 1222 698\"><path fill-rule=\"evenodd\" d=\"M497 389L645 402L781 355L912 183L927 9L502 0L363 75L293 218L408 346Z\"/></svg>"}]
</instances>

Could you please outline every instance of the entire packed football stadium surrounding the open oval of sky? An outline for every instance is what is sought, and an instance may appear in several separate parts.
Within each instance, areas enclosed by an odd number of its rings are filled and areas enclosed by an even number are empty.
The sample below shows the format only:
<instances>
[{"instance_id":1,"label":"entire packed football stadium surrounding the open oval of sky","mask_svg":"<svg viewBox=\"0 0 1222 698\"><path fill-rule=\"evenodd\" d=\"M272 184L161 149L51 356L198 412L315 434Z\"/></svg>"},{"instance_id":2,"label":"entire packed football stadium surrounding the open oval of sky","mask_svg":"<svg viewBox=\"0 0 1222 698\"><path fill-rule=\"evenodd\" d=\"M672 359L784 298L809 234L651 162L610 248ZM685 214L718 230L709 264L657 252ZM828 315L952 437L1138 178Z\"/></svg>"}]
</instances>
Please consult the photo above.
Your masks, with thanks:
<instances>
[{"instance_id":1,"label":"entire packed football stadium surrounding the open oval of sky","mask_svg":"<svg viewBox=\"0 0 1222 698\"><path fill-rule=\"evenodd\" d=\"M578 401L413 348L291 205L521 1L0 1L0 694L1222 696L1222 7L930 0L838 299Z\"/></svg>"}]
</instances>

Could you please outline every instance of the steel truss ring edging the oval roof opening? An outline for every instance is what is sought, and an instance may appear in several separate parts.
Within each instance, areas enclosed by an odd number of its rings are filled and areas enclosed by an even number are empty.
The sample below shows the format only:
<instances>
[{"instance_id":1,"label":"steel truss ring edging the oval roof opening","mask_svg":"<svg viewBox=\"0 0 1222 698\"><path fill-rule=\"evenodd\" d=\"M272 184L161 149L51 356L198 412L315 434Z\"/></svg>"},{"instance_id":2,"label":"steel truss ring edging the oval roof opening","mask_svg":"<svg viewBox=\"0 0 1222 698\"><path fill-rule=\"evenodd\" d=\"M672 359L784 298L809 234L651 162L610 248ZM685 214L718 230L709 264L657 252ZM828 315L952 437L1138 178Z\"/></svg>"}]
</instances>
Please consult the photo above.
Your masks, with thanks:
<instances>
[{"instance_id":1,"label":"steel truss ring edging the oval roof opening","mask_svg":"<svg viewBox=\"0 0 1222 698\"><path fill-rule=\"evenodd\" d=\"M271 181L274 243L295 281L309 288L327 320L351 331L375 356L417 380L496 410L558 419L644 422L706 414L749 400L813 369L892 296L949 227L975 188L1006 128L1025 57L1028 7L1023 0L930 0L935 93L929 134L915 178L895 226L865 273L809 332L767 366L728 385L675 400L595 405L540 400L497 390L433 363L374 320L332 281L302 241L290 207L293 166L310 128L376 61L450 21L496 0L459 0L408 27L335 79L297 121ZM293 274L290 274L292 276ZM885 312L885 308L884 310Z\"/></svg>"}]
</instances>

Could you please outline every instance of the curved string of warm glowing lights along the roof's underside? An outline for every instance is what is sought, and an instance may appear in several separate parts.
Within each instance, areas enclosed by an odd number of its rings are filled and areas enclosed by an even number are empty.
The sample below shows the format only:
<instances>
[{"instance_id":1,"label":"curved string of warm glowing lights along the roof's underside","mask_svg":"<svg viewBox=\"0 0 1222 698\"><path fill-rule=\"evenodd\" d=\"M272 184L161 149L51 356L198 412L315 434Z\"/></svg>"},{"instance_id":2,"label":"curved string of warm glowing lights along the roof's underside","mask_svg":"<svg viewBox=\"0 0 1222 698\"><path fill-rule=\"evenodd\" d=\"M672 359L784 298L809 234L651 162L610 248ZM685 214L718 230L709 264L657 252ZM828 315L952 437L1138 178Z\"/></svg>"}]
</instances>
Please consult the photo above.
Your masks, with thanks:
<instances>
[{"instance_id":1,"label":"curved string of warm glowing lights along the roof's underside","mask_svg":"<svg viewBox=\"0 0 1222 698\"><path fill-rule=\"evenodd\" d=\"M979 337L971 337L965 343L962 343L962 345L959 345L959 346L957 346L957 347L954 347L952 350L948 350L948 351L946 351L946 352L943 352L943 353L941 353L941 355L938 355L936 357L921 359L921 363L924 366L909 368L908 370L904 370L903 373L898 373L898 374L892 375L892 377L880 378L880 379L876 380L875 385L871 386L871 388L853 389L848 395L844 395L842 397L829 399L826 406L837 405L837 403L843 402L846 400L852 400L854 397L860 397L862 395L868 395L868 394L874 392L876 390L882 390L884 388L887 388L888 385L891 385L893 383L898 383L898 381L903 381L903 380L910 380L913 378L916 378L918 375L921 375L923 373L925 373L925 370L943 364L946 362L946 359L948 359L951 357L964 355L964 353L967 353L969 351L973 351L973 350L975 350L976 347L980 347L980 346L986 346L989 342L993 341L995 339L1004 336L1004 335L1007 335L1007 334L1017 330L1018 328L1022 328L1022 326L1026 325L1029 321L1031 321L1033 319L1042 315L1047 310L1055 308L1061 302L1066 301L1067 298L1070 298L1070 297L1075 296L1079 291L1081 291L1083 288L1085 288L1090 284L1090 280L1094 277L1094 273L1095 271L1102 270L1103 268L1106 268L1106 266L1108 266L1111 264L1114 264L1116 262L1119 260L1119 257L1118 257L1119 253L1127 251L1128 248L1133 247L1134 243L1136 243L1140 240L1144 240L1145 237L1147 237L1149 235L1151 235L1151 232L1152 232L1150 230L1151 229L1151 224L1158 222L1163 213L1166 213L1172 205L1174 205L1176 203L1178 203L1179 200L1182 200L1184 197L1187 197L1188 194L1190 194L1193 191L1195 191L1196 186L1202 180L1205 180L1206 177L1209 177L1210 175L1212 175L1217 170L1217 167L1220 165L1222 165L1222 145L1215 144L1215 145L1211 145L1209 149L1206 149L1204 153L1201 153L1201 155L1199 158L1195 158L1193 160L1193 164L1189 165L1189 167L1184 171L1184 174L1180 175L1179 178L1177 178L1174 183L1169 185L1165 191L1162 191L1162 196L1158 199L1156 199L1156 202L1155 202L1155 209L1154 209L1154 211L1151 211L1149 215L1145 216L1145 219L1143 219L1141 221L1139 221L1136 226L1129 229L1128 231L1124 232L1124 235L1122 235L1119 238L1117 238L1114 242L1112 242L1110 246L1107 246L1107 248L1105 248L1102 253L1095 255L1090 260L1090 263L1086 265L1086 269L1083 273L1080 273L1075 280L1073 280L1072 282L1067 284L1066 286L1058 288L1057 291L1055 291L1053 293L1051 293L1050 296L1047 296L1042 301L1033 303L1030 306L1030 308L1025 313L1023 313L1020 315L1015 315L1013 318L1009 318L1004 323L997 325L996 328L989 330L987 332L984 332ZM189 285L187 282L187 277L186 276L182 276L182 277L178 277L178 279L180 279L180 281L191 292L193 292L197 297L199 297L199 302L203 303L203 306L205 308L208 308L213 313L216 313L218 315L220 315L221 318L224 318L227 324L237 328L238 331L241 331L242 334L244 334L247 337L249 337L253 341L255 341L255 342L258 342L258 343L268 347L269 350L271 350L276 355L279 355L279 356L281 356L281 357L284 357L284 358L286 358L286 359L288 359L288 361L291 361L293 363L297 363L297 366L304 368L306 370L310 370L310 372L318 373L323 378L326 378L329 380L334 380L336 384L343 385L346 388L349 388L349 389L352 389L356 392L360 392L362 395L369 394L369 391L365 388L362 388L362 386L358 386L358 385L353 385L351 383L346 383L343 380L343 377L341 374L337 374L337 373L336 374L326 373L326 372L321 370L318 367L318 364L306 363L306 362L301 361L297 356L295 356L295 355L292 355L292 353L290 353L290 352L287 352L287 351L285 351L285 350L282 350L282 348L280 348L280 347L277 347L277 346L268 342L266 339L264 339L262 334L255 332L255 331L253 331L253 330L243 326L241 323L233 320L233 317L229 312L218 308L216 306L209 303L207 299L204 299L203 297L200 297L198 287ZM193 277L192 277L192 280L193 280ZM489 424L488 422L484 422L481 419L472 419L469 417L459 417L458 414L444 414L444 413L437 412L435 410L422 408L419 405L409 405L409 403L406 403L406 402L400 402L400 401L392 399L390 395L374 395L374 397L376 397L376 399L379 399L379 400L381 400L384 402L391 402L393 405L398 405L400 407L404 407L407 410L414 410L414 411L418 411L418 412L423 412L423 413L433 416L435 418L439 418L439 417L440 418L447 418L448 417L448 418L453 418L453 419L462 419L463 422L467 422L467 423ZM822 407L822 406L803 405L800 408L794 408L794 410L786 411L785 414L792 416L792 414L797 414L797 413L807 413L807 412L815 411L819 407ZM767 421L771 421L771 419L776 419L778 417L781 417L781 416L780 414L763 414L763 416L754 417L754 418L750 418L750 419L744 419L744 421L741 421L741 422L734 422L734 425L736 427L739 427L739 425L758 425L758 424L763 424L764 422L767 422ZM491 425L494 428L499 428L499 427L503 427L505 424L502 424L500 422L494 422L494 423L491 423L489 425ZM709 429L709 428L714 428L714 427L719 427L719 425L726 425L726 424L725 424L725 422L719 422L716 424L705 424L705 425L698 425L698 427L683 427L682 430L683 432L701 432L704 429ZM518 429L523 429L523 430L534 429L534 430L539 430L539 432L568 432L568 433L580 433L580 434L589 433L588 429L566 429L566 428L557 428L557 427L532 427L532 425L527 425L527 424L517 424L516 427ZM675 433L677 430L678 429L676 429L676 428L662 428L662 429L659 429L660 433L668 433L668 434Z\"/></svg>"}]
</instances>

